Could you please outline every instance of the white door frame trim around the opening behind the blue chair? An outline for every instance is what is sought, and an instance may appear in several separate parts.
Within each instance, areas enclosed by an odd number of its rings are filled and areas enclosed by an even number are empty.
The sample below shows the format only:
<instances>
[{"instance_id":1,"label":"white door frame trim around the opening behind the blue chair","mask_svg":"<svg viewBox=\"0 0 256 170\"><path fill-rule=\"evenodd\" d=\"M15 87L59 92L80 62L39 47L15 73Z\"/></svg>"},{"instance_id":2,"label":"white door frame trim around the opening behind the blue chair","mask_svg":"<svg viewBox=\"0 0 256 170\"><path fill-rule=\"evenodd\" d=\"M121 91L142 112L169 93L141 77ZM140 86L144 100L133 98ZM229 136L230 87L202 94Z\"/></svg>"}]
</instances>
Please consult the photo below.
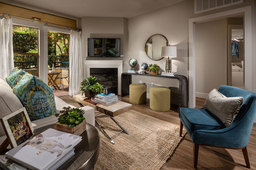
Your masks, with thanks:
<instances>
[{"instance_id":1,"label":"white door frame trim around the opening behind the blue chair","mask_svg":"<svg viewBox=\"0 0 256 170\"><path fill-rule=\"evenodd\" d=\"M200 16L197 18L189 19L189 108L195 108L195 24L198 22L206 22L210 20L226 18L234 15L244 16L244 37L246 39L244 47L244 58L245 58L245 90L252 91L252 77L253 60L252 60L252 9L251 6L241 7L220 13Z\"/></svg>"}]
</instances>

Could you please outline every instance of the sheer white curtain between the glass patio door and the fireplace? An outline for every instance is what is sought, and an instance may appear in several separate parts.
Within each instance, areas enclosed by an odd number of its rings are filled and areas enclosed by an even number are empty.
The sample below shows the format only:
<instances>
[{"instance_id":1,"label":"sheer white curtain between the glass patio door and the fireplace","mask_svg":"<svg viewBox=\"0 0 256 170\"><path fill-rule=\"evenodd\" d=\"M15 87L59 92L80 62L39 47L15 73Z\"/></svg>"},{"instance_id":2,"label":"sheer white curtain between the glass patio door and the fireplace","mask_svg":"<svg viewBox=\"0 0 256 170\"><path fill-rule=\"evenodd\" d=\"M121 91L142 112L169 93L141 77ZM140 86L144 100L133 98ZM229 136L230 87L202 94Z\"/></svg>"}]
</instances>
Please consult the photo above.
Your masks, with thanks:
<instances>
[{"instance_id":1,"label":"sheer white curtain between the glass patio door and the fireplace","mask_svg":"<svg viewBox=\"0 0 256 170\"><path fill-rule=\"evenodd\" d=\"M82 52L81 31L70 31L70 55L69 55L69 95L73 96L80 92L82 82Z\"/></svg>"}]
</instances>

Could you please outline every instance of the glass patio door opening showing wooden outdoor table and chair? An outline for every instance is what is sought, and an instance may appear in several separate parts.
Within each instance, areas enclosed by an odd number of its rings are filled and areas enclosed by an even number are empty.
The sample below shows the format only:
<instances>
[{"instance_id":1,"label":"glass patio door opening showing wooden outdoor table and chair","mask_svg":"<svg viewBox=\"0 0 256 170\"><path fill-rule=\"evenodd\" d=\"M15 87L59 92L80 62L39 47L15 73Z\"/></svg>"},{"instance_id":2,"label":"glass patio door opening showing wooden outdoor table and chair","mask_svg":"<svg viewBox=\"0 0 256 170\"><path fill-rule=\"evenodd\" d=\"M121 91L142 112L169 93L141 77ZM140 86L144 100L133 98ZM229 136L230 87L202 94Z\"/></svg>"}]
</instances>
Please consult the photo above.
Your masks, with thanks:
<instances>
[{"instance_id":1,"label":"glass patio door opening showing wooden outdoor table and chair","mask_svg":"<svg viewBox=\"0 0 256 170\"><path fill-rule=\"evenodd\" d=\"M48 84L55 96L69 95L70 35L48 31Z\"/></svg>"}]
</instances>

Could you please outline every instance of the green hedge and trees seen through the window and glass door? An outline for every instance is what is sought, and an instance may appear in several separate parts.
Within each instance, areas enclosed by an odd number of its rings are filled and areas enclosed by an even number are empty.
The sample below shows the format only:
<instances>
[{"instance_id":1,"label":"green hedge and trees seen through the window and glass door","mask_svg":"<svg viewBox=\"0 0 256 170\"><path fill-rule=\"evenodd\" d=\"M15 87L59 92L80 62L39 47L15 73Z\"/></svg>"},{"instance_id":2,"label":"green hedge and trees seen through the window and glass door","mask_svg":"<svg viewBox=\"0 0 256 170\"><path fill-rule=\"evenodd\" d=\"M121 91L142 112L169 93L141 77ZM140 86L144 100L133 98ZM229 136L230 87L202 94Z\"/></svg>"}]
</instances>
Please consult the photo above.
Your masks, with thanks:
<instances>
[{"instance_id":1,"label":"green hedge and trees seen through the window and glass door","mask_svg":"<svg viewBox=\"0 0 256 170\"><path fill-rule=\"evenodd\" d=\"M13 52L38 53L38 29L13 26ZM37 55L14 55L14 62L30 62L37 68ZM33 62L33 64L32 64ZM48 31L48 62L69 62L69 35ZM20 67L20 64L18 64ZM17 66L18 66L17 65ZM23 66L25 66L23 64ZM52 66L52 64L50 64ZM51 67L50 66L50 67Z\"/></svg>"}]
</instances>

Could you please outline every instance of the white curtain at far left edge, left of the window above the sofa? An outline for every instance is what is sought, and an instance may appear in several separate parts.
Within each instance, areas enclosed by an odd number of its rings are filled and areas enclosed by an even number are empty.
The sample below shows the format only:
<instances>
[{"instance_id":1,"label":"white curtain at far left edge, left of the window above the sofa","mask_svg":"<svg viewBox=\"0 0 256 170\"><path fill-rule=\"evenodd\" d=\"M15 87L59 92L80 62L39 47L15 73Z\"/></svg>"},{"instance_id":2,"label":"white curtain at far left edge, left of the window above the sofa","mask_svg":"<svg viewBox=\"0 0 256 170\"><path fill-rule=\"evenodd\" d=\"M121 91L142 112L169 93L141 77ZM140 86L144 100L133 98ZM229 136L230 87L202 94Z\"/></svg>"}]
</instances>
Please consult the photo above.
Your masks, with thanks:
<instances>
[{"instance_id":1,"label":"white curtain at far left edge, left of the window above the sofa","mask_svg":"<svg viewBox=\"0 0 256 170\"><path fill-rule=\"evenodd\" d=\"M0 77L6 78L13 68L13 22L11 18L2 18L0 19Z\"/></svg>"}]
</instances>

